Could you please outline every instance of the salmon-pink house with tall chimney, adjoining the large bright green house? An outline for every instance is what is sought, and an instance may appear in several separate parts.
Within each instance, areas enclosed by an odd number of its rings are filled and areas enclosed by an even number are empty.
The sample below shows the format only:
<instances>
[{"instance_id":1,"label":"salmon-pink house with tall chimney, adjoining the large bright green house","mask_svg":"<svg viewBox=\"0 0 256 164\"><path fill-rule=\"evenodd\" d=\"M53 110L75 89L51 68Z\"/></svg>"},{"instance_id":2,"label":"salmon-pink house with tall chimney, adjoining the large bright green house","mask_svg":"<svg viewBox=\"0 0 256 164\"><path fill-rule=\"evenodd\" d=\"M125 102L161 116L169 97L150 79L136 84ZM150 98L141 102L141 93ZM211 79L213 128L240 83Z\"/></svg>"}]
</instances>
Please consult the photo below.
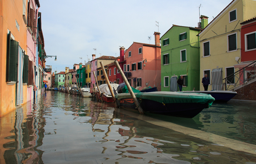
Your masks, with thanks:
<instances>
[{"instance_id":1,"label":"salmon-pink house with tall chimney, adjoining the large bright green house","mask_svg":"<svg viewBox=\"0 0 256 164\"><path fill-rule=\"evenodd\" d=\"M161 90L160 33L155 32L155 44L133 42L124 52L124 72L133 88L157 87Z\"/></svg>"}]
</instances>

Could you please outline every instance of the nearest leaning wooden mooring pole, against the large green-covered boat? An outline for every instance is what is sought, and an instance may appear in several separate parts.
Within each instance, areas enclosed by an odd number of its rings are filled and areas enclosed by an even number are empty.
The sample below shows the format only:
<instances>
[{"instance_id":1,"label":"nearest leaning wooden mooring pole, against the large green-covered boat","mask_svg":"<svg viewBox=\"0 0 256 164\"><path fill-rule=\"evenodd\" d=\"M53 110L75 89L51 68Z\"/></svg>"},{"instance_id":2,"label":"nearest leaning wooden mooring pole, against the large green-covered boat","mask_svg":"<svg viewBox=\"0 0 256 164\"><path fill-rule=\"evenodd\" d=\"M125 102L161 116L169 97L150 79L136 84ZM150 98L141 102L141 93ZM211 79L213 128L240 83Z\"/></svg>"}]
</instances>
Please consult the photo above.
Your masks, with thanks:
<instances>
[{"instance_id":1,"label":"nearest leaning wooden mooring pole, against the large green-covered boat","mask_svg":"<svg viewBox=\"0 0 256 164\"><path fill-rule=\"evenodd\" d=\"M120 75L122 76L122 78L123 78L123 80L124 80L124 83L126 83L126 86L127 86L127 88L128 88L128 91L129 91L129 93L130 93L130 96L132 96L133 101L134 101L136 107L137 107L138 110L139 110L139 113L140 113L140 114L144 114L143 109L140 107L139 102L138 102L137 98L135 97L135 94L133 93L132 88L130 87L129 82L128 82L126 76L125 76L124 73L123 73L123 70L121 69L121 67L120 67L119 64L118 64L118 61L117 61L117 60L114 61L114 64L117 66L117 69L118 69Z\"/></svg>"}]
</instances>

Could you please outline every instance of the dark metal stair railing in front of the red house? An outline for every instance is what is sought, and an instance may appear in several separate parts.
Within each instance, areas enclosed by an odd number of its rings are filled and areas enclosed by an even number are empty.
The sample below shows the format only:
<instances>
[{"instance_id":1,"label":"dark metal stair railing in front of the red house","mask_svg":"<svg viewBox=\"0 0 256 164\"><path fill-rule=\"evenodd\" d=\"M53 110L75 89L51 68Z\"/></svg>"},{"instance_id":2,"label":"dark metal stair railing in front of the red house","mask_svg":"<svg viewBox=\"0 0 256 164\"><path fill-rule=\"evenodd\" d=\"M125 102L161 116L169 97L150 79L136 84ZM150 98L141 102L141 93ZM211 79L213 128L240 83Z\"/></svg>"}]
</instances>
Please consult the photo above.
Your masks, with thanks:
<instances>
[{"instance_id":1,"label":"dark metal stair railing in front of the red house","mask_svg":"<svg viewBox=\"0 0 256 164\"><path fill-rule=\"evenodd\" d=\"M235 87L253 80L256 77L255 68L256 61L241 68L239 71L234 72L233 75L229 75L228 77L224 78L223 80L225 80L225 91L234 90Z\"/></svg>"}]
</instances>

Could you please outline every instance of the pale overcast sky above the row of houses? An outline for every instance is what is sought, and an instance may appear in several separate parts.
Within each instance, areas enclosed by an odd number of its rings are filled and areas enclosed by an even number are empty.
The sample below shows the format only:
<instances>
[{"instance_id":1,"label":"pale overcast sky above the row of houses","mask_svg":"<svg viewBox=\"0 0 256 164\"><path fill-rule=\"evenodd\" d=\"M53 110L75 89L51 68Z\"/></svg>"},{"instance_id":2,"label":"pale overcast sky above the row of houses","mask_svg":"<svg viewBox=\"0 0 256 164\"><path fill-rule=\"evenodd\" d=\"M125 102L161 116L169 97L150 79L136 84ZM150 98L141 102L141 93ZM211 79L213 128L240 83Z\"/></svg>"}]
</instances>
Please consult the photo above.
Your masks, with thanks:
<instances>
[{"instance_id":1,"label":"pale overcast sky above the row of houses","mask_svg":"<svg viewBox=\"0 0 256 164\"><path fill-rule=\"evenodd\" d=\"M173 24L197 27L200 14L213 20L232 0L84 1L41 0L46 65L65 71L73 64L92 60L92 54L119 56L133 41L154 43L155 25L162 36ZM93 50L94 48L97 51ZM100 55L101 54L101 55ZM82 60L79 59L82 57Z\"/></svg>"}]
</instances>

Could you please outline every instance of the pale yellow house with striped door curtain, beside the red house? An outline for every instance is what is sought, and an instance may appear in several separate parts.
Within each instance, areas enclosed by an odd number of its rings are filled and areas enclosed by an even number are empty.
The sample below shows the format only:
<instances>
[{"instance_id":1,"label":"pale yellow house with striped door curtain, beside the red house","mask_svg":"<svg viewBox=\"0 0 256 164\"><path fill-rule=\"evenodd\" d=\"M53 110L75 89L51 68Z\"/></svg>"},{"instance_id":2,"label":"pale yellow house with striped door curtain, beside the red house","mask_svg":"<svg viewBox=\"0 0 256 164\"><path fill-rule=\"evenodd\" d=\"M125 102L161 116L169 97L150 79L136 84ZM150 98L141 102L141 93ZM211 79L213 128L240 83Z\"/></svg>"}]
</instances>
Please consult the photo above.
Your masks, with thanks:
<instances>
[{"instance_id":1,"label":"pale yellow house with striped door curtain, beside the red house","mask_svg":"<svg viewBox=\"0 0 256 164\"><path fill-rule=\"evenodd\" d=\"M234 0L199 33L200 78L205 73L210 77L208 91L222 90L223 78L238 71L234 65L240 62L240 23L255 17L255 8L256 1ZM228 84L234 82L229 79Z\"/></svg>"}]
</instances>

